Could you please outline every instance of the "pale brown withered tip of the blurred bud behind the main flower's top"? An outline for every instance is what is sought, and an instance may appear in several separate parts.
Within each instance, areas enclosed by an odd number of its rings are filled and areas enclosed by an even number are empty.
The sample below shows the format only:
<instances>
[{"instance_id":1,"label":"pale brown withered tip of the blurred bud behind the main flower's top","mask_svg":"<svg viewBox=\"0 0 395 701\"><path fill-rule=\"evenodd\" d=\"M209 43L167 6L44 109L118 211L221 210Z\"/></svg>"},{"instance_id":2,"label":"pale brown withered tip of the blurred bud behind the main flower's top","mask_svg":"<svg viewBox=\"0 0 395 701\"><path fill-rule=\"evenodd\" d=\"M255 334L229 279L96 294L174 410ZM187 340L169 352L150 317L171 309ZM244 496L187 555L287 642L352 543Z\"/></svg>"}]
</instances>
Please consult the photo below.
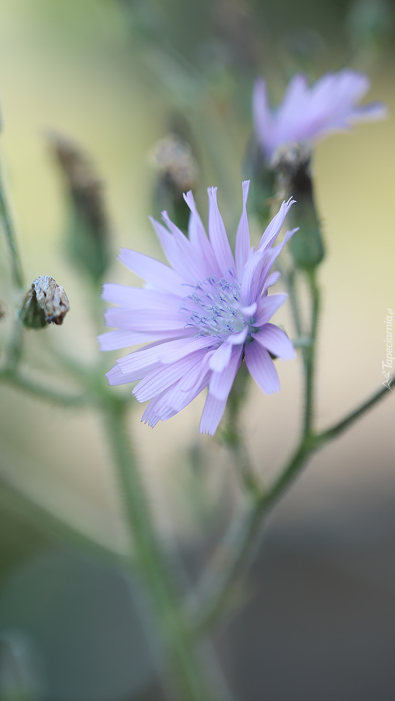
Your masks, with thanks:
<instances>
[{"instance_id":1,"label":"pale brown withered tip of the blurred bud behind the main flower's top","mask_svg":"<svg viewBox=\"0 0 395 701\"><path fill-rule=\"evenodd\" d=\"M197 163L189 144L177 134L170 133L155 144L148 154L152 168L166 173L182 192L192 190L197 177Z\"/></svg>"}]
</instances>

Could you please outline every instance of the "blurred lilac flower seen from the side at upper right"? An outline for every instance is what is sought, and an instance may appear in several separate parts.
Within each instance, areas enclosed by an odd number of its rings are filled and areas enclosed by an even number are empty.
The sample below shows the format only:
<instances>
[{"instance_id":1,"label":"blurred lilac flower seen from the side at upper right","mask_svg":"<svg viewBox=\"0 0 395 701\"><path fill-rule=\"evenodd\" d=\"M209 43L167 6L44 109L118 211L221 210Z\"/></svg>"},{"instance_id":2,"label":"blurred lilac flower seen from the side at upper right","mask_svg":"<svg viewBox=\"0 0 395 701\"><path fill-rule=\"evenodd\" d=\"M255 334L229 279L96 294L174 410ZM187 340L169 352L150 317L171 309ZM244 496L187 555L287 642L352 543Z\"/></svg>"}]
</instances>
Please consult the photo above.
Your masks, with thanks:
<instances>
[{"instance_id":1,"label":"blurred lilac flower seen from the side at upper right","mask_svg":"<svg viewBox=\"0 0 395 701\"><path fill-rule=\"evenodd\" d=\"M381 102L357 107L370 88L368 77L344 69L326 73L309 88L307 78L298 74L288 84L283 102L272 111L266 83L257 79L253 92L253 118L257 139L268 158L277 147L290 142L319 139L362 121L382 119L387 109Z\"/></svg>"}]
</instances>

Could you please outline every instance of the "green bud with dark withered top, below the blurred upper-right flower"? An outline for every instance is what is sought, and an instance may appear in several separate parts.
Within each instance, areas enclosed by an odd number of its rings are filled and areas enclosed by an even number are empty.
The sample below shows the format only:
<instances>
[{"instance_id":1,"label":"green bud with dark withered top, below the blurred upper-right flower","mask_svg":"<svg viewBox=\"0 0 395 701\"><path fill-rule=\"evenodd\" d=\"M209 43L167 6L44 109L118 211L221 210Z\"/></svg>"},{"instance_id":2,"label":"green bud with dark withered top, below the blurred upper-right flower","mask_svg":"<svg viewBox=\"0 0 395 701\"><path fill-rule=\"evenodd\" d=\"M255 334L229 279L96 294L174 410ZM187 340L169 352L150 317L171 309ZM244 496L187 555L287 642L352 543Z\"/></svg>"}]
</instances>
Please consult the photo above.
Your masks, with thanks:
<instances>
[{"instance_id":1,"label":"green bud with dark withered top, below the blurred upper-right flower","mask_svg":"<svg viewBox=\"0 0 395 701\"><path fill-rule=\"evenodd\" d=\"M298 268L314 268L325 254L314 204L311 157L309 144L295 143L277 149L272 160L279 200L290 196L296 200L288 215L288 227L300 226L300 230L294 233L288 247Z\"/></svg>"}]
</instances>

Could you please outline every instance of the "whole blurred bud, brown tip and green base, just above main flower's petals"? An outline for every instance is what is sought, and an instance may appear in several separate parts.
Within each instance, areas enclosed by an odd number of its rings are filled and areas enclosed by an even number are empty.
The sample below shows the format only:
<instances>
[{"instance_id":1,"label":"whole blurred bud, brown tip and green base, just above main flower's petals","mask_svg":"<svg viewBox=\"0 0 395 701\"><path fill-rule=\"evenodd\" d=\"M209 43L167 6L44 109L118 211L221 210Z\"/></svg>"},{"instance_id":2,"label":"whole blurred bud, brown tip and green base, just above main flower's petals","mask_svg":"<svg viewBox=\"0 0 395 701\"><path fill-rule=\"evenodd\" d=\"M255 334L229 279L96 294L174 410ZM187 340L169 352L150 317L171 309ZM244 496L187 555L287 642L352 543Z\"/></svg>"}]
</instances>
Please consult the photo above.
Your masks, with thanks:
<instances>
[{"instance_id":1,"label":"whole blurred bud, brown tip and green base, just above main flower's petals","mask_svg":"<svg viewBox=\"0 0 395 701\"><path fill-rule=\"evenodd\" d=\"M167 210L182 231L187 231L189 207L182 193L194 189L198 174L192 149L177 134L170 133L149 151L149 163L160 172L155 199L159 211Z\"/></svg>"}]
</instances>

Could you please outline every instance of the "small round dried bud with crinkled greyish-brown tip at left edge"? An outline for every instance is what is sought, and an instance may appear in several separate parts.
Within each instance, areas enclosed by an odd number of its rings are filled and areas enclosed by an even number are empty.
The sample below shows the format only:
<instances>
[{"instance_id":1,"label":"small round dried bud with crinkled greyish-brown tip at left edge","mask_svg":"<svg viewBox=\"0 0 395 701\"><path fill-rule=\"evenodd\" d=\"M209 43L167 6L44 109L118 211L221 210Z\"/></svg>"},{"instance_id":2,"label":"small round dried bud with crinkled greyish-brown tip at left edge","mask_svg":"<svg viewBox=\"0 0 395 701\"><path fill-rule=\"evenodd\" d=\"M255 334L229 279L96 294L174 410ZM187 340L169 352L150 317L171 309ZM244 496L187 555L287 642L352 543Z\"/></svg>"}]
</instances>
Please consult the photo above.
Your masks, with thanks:
<instances>
[{"instance_id":1,"label":"small round dried bud with crinkled greyish-brown tip at left edge","mask_svg":"<svg viewBox=\"0 0 395 701\"><path fill-rule=\"evenodd\" d=\"M64 288L51 275L41 275L25 295L19 317L27 329L43 329L47 324L62 324L69 308Z\"/></svg>"}]
</instances>

